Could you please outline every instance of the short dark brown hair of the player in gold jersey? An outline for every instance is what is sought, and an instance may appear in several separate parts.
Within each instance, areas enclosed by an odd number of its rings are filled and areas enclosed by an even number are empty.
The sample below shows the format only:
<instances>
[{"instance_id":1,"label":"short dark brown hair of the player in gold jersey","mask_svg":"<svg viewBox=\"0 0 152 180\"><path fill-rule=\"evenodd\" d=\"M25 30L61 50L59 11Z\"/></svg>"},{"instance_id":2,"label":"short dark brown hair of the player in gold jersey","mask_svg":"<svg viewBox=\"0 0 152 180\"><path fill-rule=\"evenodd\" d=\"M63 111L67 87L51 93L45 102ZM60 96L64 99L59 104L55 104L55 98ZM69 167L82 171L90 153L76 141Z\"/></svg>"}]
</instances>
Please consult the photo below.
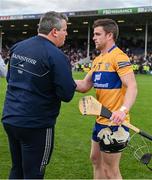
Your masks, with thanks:
<instances>
[{"instance_id":1,"label":"short dark brown hair of the player in gold jersey","mask_svg":"<svg viewBox=\"0 0 152 180\"><path fill-rule=\"evenodd\" d=\"M98 19L94 21L93 29L98 26L102 26L106 33L113 33L114 41L117 40L118 35L119 35L119 28L118 28L117 23L114 20L108 19L108 18Z\"/></svg>"}]
</instances>

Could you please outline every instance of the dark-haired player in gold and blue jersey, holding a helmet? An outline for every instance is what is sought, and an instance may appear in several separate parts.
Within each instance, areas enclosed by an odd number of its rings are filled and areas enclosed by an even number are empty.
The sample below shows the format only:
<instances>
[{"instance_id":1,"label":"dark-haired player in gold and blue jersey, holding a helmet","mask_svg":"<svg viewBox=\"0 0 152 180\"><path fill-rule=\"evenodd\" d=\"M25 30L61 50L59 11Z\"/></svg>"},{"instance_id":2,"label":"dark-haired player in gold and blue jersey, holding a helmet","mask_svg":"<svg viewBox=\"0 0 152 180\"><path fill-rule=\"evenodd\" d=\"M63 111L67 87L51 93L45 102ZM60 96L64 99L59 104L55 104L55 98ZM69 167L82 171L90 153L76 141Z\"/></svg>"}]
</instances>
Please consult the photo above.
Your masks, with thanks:
<instances>
[{"instance_id":1,"label":"dark-haired player in gold and blue jersey, holding a helmet","mask_svg":"<svg viewBox=\"0 0 152 180\"><path fill-rule=\"evenodd\" d=\"M119 162L129 133L119 124L129 121L128 113L137 95L136 81L129 58L115 44L119 32L116 22L99 19L93 28L93 40L101 54L86 77L75 81L76 90L84 93L94 87L97 100L113 112L110 124L104 117L96 119L90 155L94 179L121 179Z\"/></svg>"}]
</instances>

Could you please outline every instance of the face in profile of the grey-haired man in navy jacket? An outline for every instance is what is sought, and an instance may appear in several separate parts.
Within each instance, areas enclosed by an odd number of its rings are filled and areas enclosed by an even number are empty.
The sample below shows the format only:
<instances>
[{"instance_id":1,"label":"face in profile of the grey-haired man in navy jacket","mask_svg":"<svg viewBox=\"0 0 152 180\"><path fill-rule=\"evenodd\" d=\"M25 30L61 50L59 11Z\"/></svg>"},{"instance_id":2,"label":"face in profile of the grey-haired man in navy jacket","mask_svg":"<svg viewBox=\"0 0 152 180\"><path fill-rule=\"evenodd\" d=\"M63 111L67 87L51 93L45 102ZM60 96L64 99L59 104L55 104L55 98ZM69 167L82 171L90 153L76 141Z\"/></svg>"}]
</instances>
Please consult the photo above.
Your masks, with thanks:
<instances>
[{"instance_id":1,"label":"face in profile of the grey-haired man in navy jacket","mask_svg":"<svg viewBox=\"0 0 152 180\"><path fill-rule=\"evenodd\" d=\"M58 47L61 47L64 45L64 42L65 42L65 39L67 36L67 23L65 20L62 20L61 26L62 26L62 28L60 30L58 30L58 32L57 32L57 38L58 38L57 46Z\"/></svg>"}]
</instances>

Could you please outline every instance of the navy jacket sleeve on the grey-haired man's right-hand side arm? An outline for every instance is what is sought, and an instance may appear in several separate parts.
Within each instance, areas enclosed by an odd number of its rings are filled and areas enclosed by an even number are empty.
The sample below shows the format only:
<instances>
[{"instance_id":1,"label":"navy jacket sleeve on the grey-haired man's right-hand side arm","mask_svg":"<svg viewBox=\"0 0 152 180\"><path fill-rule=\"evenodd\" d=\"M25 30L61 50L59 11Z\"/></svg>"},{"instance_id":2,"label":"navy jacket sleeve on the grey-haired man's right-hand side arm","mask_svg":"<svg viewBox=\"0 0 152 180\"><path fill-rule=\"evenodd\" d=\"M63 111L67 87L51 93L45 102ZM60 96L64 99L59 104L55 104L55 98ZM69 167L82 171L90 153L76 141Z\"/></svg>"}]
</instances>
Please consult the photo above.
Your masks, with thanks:
<instances>
[{"instance_id":1,"label":"navy jacket sleeve on the grey-haired man's right-hand side arm","mask_svg":"<svg viewBox=\"0 0 152 180\"><path fill-rule=\"evenodd\" d=\"M54 84L56 95L61 101L69 102L74 95L76 84L72 78L71 66L64 54L58 54L54 61Z\"/></svg>"}]
</instances>

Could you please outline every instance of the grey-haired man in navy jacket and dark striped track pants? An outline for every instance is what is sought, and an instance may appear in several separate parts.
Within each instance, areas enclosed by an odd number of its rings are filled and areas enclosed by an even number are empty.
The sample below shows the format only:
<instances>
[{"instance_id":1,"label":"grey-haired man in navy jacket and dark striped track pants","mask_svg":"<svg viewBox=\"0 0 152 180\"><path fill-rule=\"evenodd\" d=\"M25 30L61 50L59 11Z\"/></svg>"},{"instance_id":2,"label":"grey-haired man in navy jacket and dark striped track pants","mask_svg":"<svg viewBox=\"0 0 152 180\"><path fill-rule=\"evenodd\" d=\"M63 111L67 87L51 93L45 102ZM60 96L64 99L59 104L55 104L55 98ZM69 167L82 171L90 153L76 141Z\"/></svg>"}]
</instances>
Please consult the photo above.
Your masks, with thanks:
<instances>
[{"instance_id":1,"label":"grey-haired man in navy jacket and dark striped track pants","mask_svg":"<svg viewBox=\"0 0 152 180\"><path fill-rule=\"evenodd\" d=\"M48 12L37 36L11 48L2 117L12 158L10 179L44 177L61 101L69 102L76 87L69 60L58 48L66 36L67 17Z\"/></svg>"}]
</instances>

